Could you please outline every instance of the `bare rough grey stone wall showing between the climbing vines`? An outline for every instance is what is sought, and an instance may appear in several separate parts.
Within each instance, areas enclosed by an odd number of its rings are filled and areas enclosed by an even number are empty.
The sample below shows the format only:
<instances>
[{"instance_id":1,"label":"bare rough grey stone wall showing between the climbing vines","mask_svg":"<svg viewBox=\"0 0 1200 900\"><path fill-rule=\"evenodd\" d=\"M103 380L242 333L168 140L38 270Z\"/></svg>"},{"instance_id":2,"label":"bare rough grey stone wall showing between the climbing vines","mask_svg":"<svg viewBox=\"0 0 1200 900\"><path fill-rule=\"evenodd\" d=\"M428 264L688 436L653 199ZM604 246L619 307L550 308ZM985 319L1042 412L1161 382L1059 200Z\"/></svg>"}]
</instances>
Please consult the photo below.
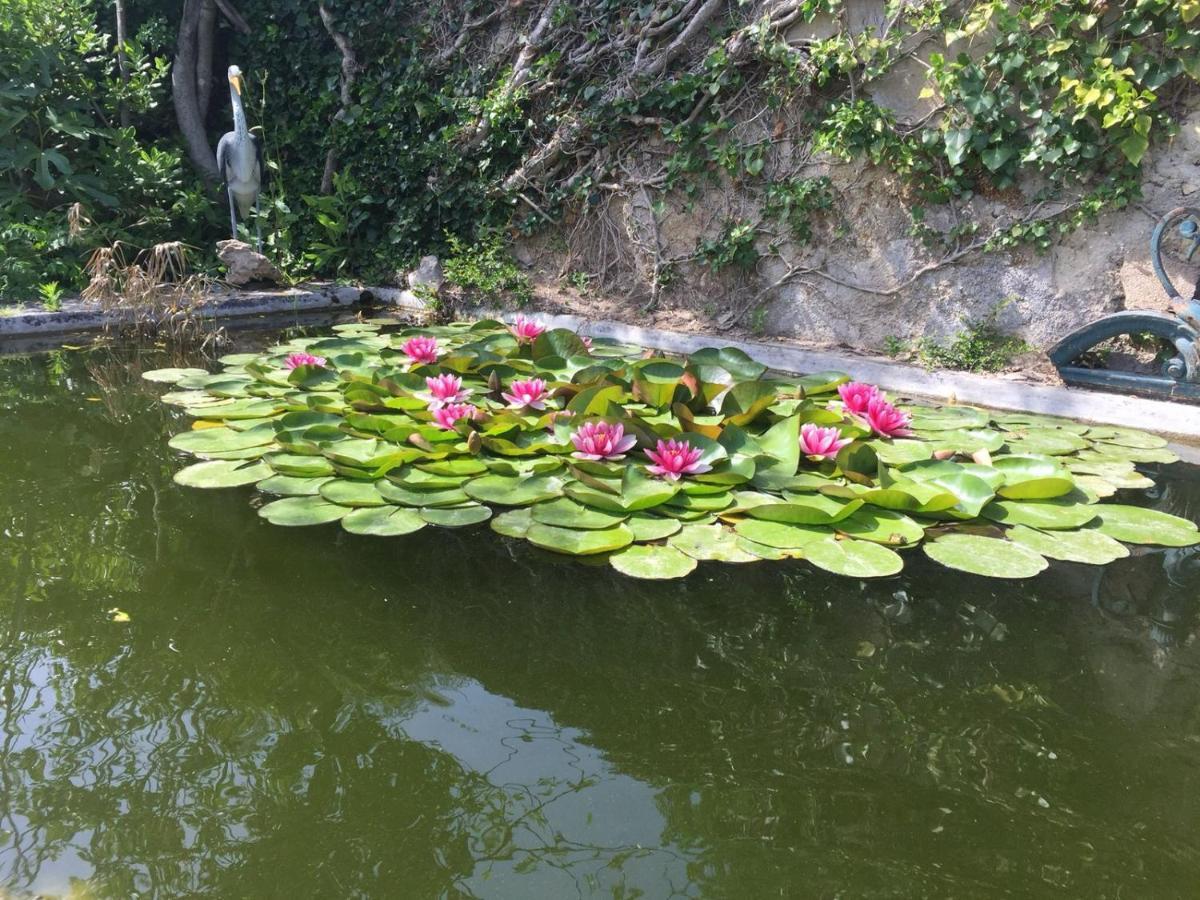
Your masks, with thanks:
<instances>
[{"instance_id":1,"label":"bare rough grey stone wall showing between the climbing vines","mask_svg":"<svg viewBox=\"0 0 1200 900\"><path fill-rule=\"evenodd\" d=\"M881 14L877 0L847 0L840 22L818 18L794 26L803 34L792 37L803 42L839 28L875 28ZM923 64L931 52L944 47L911 49L910 58L869 85L871 98L889 108L900 122L918 122L936 112L935 101L922 96L926 85ZM709 186L698 197L668 197L656 221L644 192L605 194L599 216L602 240L595 228L589 232L568 222L564 233L518 247L518 258L552 277L571 270L605 272L608 292L624 293L630 300L629 316L640 319L653 270L650 257L656 254L673 260L676 271L671 284L655 298L654 308L661 317L688 311L701 319L701 326L720 328L731 324L731 311L745 311L737 324L762 334L862 349L880 349L888 337L944 337L997 306L1003 329L1040 348L1108 312L1165 307L1150 266L1150 234L1163 212L1187 204L1200 206L1200 109L1184 116L1174 140L1151 148L1142 162L1144 198L1138 205L1105 214L1058 239L1048 252L972 251L943 265L938 263L944 251L934 253L910 234L912 199L901 179L863 162L805 156L802 142L788 145L792 126L799 133L803 109L798 109L774 122L760 116L757 124L736 126L744 127L742 139L752 139L756 127L760 136L774 127L773 152L782 164L773 164L788 174L827 175L836 194L835 209L817 222L806 246L762 235L757 246L763 258L752 275L713 274L695 257L698 242L715 236L731 216L761 217L756 203L728 182ZM647 139L647 158L661 160L667 152L656 140ZM626 170L636 172L637 164L634 154ZM958 216L979 222L986 233L990 224L1004 226L1026 215L1038 187L1028 184L1021 190L977 196L958 210L931 208L928 223L948 229ZM595 198L592 202L595 204ZM1052 205L1045 211L1052 212ZM590 215L598 218L594 210ZM773 242L793 266L812 271L772 289L788 271L779 256L768 252ZM599 253L600 244L608 247L607 254ZM616 262L614 253L620 257ZM624 274L624 280L611 277L613 272ZM1176 275L1194 282L1196 270L1180 264ZM755 313L748 307L758 298L761 310ZM586 296L576 308L587 311ZM607 306L604 313L622 314L619 307Z\"/></svg>"}]
</instances>

